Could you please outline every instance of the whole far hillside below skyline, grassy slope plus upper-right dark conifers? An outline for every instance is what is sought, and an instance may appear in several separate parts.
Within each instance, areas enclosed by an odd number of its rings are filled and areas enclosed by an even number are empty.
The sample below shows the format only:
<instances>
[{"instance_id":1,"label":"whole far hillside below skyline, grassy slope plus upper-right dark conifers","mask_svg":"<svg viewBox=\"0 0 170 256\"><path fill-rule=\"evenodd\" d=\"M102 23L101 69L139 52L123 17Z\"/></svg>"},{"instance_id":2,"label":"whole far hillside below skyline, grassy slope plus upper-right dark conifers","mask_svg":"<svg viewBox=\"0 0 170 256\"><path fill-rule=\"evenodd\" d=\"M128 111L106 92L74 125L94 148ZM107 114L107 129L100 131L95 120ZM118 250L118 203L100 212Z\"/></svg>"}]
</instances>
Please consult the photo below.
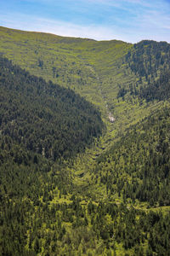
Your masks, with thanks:
<instances>
[{"instance_id":1,"label":"whole far hillside below skyline, grassy slope plus upper-right dark conifers","mask_svg":"<svg viewBox=\"0 0 170 256\"><path fill-rule=\"evenodd\" d=\"M164 80L167 77L169 44L166 42L142 41L134 45L117 40L98 42L5 27L0 27L0 38L0 52L13 63L46 81L50 79L69 87L94 103L111 131L106 140L114 139L117 133L123 134L128 126L150 115L159 105L147 103L153 98L153 90L150 93L147 90L151 85L156 90L160 75ZM143 93L140 89L144 89ZM161 98L166 90L165 84L160 89ZM110 115L115 119L113 125Z\"/></svg>"}]
</instances>

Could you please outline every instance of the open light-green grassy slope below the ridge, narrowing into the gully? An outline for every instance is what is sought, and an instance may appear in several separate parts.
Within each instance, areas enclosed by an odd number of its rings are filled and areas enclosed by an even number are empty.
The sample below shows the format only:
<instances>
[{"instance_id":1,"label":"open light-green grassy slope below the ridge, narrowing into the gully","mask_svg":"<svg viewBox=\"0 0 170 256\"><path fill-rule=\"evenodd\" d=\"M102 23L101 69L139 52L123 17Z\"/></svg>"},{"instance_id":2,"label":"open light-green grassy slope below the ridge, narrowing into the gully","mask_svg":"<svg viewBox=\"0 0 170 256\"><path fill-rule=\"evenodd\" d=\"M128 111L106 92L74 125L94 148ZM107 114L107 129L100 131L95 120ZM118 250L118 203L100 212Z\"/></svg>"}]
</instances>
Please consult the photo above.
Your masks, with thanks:
<instances>
[{"instance_id":1,"label":"open light-green grassy slope below the ridge, narrowing into the gully","mask_svg":"<svg viewBox=\"0 0 170 256\"><path fill-rule=\"evenodd\" d=\"M136 97L124 101L119 90L136 84L139 76L126 62L133 44L63 38L46 33L0 28L0 52L31 74L76 90L101 111L111 142L125 129L150 114L150 106ZM114 123L111 123L111 119Z\"/></svg>"}]
</instances>

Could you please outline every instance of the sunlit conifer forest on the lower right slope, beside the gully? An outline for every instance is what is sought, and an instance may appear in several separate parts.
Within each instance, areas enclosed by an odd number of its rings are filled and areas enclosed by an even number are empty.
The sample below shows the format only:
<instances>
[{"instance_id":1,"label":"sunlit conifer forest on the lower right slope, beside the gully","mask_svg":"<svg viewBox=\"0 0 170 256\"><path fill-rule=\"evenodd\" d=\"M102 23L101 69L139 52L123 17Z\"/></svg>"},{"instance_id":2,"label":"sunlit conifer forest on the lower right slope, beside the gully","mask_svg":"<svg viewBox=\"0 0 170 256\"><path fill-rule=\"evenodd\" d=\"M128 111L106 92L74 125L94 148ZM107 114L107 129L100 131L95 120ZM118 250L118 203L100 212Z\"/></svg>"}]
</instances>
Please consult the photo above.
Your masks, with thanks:
<instances>
[{"instance_id":1,"label":"sunlit conifer forest on the lower right slope, beside the gully","mask_svg":"<svg viewBox=\"0 0 170 256\"><path fill-rule=\"evenodd\" d=\"M170 206L170 108L162 108L127 131L127 135L98 158L99 182L109 196L123 201Z\"/></svg>"}]
</instances>

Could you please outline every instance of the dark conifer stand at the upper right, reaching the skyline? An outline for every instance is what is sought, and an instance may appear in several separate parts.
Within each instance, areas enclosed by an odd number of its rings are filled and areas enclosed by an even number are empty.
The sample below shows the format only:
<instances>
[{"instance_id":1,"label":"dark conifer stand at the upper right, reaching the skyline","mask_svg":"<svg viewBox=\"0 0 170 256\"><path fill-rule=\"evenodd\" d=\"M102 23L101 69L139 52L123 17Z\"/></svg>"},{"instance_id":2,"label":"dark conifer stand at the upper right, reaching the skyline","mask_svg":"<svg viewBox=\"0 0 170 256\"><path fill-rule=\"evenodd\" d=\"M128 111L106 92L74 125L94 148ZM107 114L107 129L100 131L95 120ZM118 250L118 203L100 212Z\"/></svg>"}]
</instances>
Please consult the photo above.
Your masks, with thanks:
<instances>
[{"instance_id":1,"label":"dark conifer stand at the upper right, reaching the skyline","mask_svg":"<svg viewBox=\"0 0 170 256\"><path fill-rule=\"evenodd\" d=\"M150 102L166 100L170 96L170 45L166 42L141 41L128 51L125 61L133 73L138 76L136 83L129 88L122 87L117 97L124 97L127 92L132 96Z\"/></svg>"}]
</instances>

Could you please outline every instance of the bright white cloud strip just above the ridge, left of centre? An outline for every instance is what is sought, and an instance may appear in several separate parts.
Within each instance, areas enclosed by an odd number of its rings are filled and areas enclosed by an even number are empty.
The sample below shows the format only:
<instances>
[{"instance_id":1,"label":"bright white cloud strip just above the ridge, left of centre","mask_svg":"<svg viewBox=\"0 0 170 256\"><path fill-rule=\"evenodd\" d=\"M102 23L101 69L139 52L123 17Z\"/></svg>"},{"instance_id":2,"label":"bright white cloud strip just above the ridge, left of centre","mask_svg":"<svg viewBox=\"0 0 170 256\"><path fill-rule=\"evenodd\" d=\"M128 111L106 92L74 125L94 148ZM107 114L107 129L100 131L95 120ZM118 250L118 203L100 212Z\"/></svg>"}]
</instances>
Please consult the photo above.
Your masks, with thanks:
<instances>
[{"instance_id":1,"label":"bright white cloud strip just above the ridge, left of centre","mask_svg":"<svg viewBox=\"0 0 170 256\"><path fill-rule=\"evenodd\" d=\"M29 21L28 21L29 19ZM19 25L20 24L20 25ZM115 34L111 28L98 25L80 26L61 20L49 20L37 17L17 15L17 19L3 17L3 26L15 29L49 32L65 37L92 38L96 40L122 39L121 35Z\"/></svg>"}]
</instances>

